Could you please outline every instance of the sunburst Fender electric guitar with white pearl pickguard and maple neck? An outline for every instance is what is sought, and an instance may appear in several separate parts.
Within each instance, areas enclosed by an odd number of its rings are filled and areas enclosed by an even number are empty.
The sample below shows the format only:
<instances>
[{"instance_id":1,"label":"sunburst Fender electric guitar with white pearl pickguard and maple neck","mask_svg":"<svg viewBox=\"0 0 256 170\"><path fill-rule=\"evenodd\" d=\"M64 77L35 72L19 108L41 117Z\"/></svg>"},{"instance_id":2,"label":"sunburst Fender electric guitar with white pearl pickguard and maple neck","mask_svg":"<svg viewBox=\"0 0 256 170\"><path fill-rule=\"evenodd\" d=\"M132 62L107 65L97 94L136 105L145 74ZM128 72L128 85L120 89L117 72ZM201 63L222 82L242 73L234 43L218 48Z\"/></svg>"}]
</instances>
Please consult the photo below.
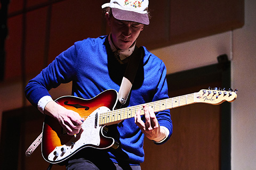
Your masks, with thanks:
<instances>
[{"instance_id":1,"label":"sunburst Fender electric guitar with white pearl pickguard and maple neck","mask_svg":"<svg viewBox=\"0 0 256 170\"><path fill-rule=\"evenodd\" d=\"M154 112L194 103L219 105L224 101L234 101L237 97L236 91L200 90L193 94L154 101L147 105L152 107ZM55 118L45 116L42 132L42 155L47 162L52 164L63 162L85 147L117 148L118 143L106 135L106 125L132 118L138 109L141 109L141 115L144 114L142 105L114 110L117 103L117 91L113 89L103 91L89 100L63 96L56 99L55 102L77 112L85 118L85 121L78 134L68 135Z\"/></svg>"}]
</instances>

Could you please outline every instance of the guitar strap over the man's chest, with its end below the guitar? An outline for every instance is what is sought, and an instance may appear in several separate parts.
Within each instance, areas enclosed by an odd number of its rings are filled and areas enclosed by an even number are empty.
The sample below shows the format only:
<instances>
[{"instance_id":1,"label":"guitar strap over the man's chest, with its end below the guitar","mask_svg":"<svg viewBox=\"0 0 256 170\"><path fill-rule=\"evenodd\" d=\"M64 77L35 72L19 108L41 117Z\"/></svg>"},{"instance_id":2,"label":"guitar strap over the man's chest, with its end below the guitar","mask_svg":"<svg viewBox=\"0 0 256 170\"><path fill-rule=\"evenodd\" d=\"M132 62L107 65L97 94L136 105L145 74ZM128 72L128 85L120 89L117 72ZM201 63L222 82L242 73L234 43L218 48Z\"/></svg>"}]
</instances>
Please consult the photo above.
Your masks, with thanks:
<instances>
[{"instance_id":1,"label":"guitar strap over the man's chest, with its end below the guitar","mask_svg":"<svg viewBox=\"0 0 256 170\"><path fill-rule=\"evenodd\" d=\"M141 58L145 55L143 47L135 46L134 52L129 58L124 77L118 92L118 101L115 109L121 108L127 101L130 91L132 89L132 83L134 82L135 75L137 73L138 67L140 65ZM43 132L36 138L36 140L28 147L25 152L27 157L31 156L35 149L42 142Z\"/></svg>"}]
</instances>

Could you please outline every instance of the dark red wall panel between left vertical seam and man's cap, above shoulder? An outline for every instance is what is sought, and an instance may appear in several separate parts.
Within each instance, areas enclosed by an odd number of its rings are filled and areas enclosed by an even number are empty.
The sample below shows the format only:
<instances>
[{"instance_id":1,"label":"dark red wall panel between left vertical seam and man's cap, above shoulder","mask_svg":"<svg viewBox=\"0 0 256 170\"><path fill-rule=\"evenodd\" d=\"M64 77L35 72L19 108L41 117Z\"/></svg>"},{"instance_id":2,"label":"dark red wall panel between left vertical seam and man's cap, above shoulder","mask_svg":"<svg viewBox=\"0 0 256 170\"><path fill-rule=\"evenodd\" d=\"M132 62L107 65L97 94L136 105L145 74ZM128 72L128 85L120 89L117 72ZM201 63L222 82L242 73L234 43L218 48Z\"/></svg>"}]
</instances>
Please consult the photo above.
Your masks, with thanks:
<instances>
[{"instance_id":1,"label":"dark red wall panel between left vertical seam and man's cap, above shoulder","mask_svg":"<svg viewBox=\"0 0 256 170\"><path fill-rule=\"evenodd\" d=\"M101 35L101 1L62 1L52 6L49 63L75 41Z\"/></svg>"}]
</instances>

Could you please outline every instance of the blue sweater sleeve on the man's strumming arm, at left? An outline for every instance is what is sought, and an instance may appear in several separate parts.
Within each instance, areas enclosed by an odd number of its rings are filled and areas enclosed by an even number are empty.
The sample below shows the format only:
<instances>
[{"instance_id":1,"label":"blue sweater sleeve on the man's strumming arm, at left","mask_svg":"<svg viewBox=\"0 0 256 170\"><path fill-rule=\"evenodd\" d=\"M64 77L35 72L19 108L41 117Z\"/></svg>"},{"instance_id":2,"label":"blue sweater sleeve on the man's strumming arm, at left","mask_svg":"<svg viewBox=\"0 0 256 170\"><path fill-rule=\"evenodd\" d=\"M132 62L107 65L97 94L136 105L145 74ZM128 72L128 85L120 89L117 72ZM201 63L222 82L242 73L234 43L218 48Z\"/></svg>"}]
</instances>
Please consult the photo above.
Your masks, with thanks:
<instances>
[{"instance_id":1,"label":"blue sweater sleeve on the man's strumming arm, at left","mask_svg":"<svg viewBox=\"0 0 256 170\"><path fill-rule=\"evenodd\" d=\"M37 107L42 97L51 96L48 92L50 89L71 81L75 75L76 56L74 45L57 56L41 73L28 82L25 95L33 106Z\"/></svg>"}]
</instances>

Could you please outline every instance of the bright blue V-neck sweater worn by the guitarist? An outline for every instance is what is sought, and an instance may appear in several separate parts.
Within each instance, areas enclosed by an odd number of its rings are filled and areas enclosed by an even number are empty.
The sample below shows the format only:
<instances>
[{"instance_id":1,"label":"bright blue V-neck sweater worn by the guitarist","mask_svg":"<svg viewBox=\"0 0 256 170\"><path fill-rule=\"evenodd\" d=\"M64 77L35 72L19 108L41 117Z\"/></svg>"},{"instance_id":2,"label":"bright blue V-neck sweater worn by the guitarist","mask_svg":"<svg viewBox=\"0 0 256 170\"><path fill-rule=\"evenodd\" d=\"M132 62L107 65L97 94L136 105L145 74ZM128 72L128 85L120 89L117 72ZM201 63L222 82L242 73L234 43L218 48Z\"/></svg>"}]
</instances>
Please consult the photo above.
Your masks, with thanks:
<instances>
[{"instance_id":1,"label":"bright blue V-neck sweater worn by the guitarist","mask_svg":"<svg viewBox=\"0 0 256 170\"><path fill-rule=\"evenodd\" d=\"M168 98L166 67L158 57L148 52L145 47L144 49L145 56L132 86L129 106ZM119 64L115 59L107 36L87 38L77 41L62 52L37 77L30 80L25 90L26 96L31 104L37 106L39 99L50 96L48 91L51 88L70 81L73 82L72 95L85 99L97 96L107 89L118 91L125 67L126 64ZM172 134L170 111L158 112L156 116L159 124L169 129L169 139ZM142 116L142 120L143 118ZM119 123L117 130L120 134L121 155L125 155L126 161L131 165L142 163L144 134L134 123L134 119ZM109 155L117 163L118 153L109 152Z\"/></svg>"}]
</instances>

